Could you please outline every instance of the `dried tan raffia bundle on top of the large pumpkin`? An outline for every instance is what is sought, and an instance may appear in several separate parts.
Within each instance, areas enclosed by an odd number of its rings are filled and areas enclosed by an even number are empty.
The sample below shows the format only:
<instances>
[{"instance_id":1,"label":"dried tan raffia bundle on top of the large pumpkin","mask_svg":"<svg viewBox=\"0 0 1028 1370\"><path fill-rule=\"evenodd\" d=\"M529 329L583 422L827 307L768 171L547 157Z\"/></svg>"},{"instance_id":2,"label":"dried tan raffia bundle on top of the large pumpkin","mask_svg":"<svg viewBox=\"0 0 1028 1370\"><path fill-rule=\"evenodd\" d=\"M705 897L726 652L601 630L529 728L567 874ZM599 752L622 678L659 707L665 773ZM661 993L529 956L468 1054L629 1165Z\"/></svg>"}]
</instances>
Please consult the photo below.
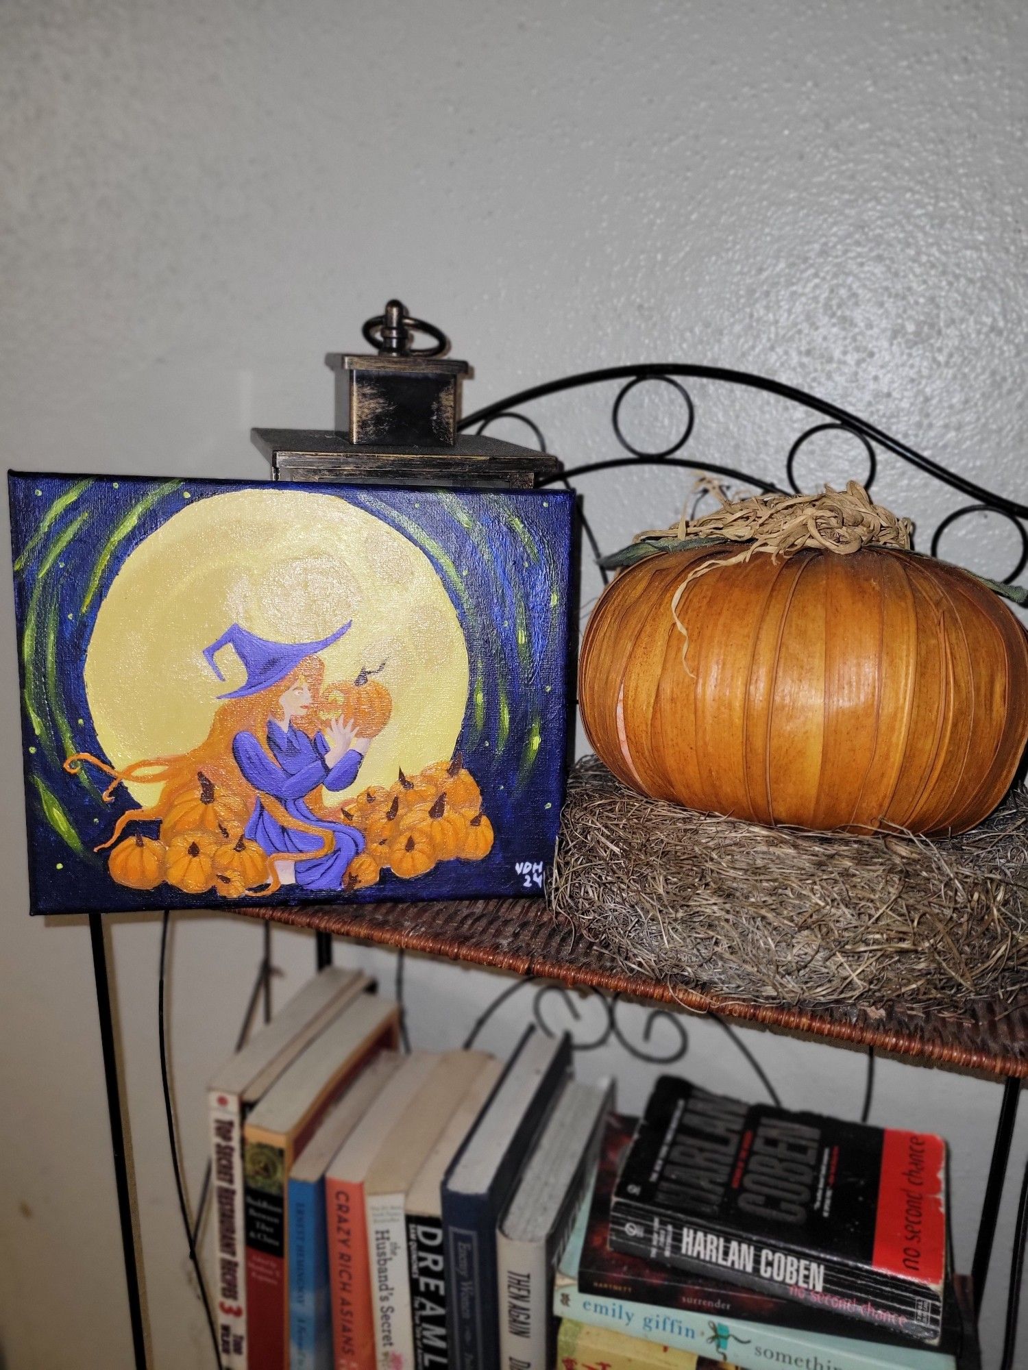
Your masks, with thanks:
<instances>
[{"instance_id":1,"label":"dried tan raffia bundle on top of the large pumpkin","mask_svg":"<svg viewBox=\"0 0 1028 1370\"><path fill-rule=\"evenodd\" d=\"M910 551L914 525L909 518L898 518L891 510L874 504L862 485L850 481L844 490L825 485L821 495L752 495L731 499L724 488L700 477L696 489L714 495L720 508L691 519L685 510L677 523L665 529L639 533L632 540L641 543L655 537L722 537L726 543L744 543L735 556L711 556L694 566L672 597L672 618L684 637L681 659L689 645L688 627L678 615L681 597L688 586L720 566L736 566L763 553L774 559L792 556L805 548L848 556L862 547L888 547ZM689 671L692 674L692 671Z\"/></svg>"}]
</instances>

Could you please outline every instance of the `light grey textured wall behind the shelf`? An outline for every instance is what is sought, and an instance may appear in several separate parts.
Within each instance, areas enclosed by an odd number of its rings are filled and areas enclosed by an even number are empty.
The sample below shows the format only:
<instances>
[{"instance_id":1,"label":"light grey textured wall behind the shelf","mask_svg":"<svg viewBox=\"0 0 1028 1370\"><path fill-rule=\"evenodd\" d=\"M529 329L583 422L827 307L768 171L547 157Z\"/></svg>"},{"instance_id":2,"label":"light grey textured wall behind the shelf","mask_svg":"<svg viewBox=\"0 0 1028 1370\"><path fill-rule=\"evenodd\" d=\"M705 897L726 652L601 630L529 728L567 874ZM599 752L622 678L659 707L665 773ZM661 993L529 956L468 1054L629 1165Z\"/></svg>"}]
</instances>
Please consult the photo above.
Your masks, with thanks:
<instances>
[{"instance_id":1,"label":"light grey textured wall behind the shelf","mask_svg":"<svg viewBox=\"0 0 1028 1370\"><path fill-rule=\"evenodd\" d=\"M328 426L322 353L356 344L399 293L474 362L472 407L615 362L737 366L1024 496L1027 62L1020 0L5 0L4 455L22 469L260 475L248 427ZM779 407L694 395L698 455L780 475ZM614 455L611 397L540 406L552 448ZM673 407L659 390L628 411L641 445L662 445ZM684 493L644 471L584 489L606 547ZM954 504L890 460L877 492L922 519ZM996 558L1009 547L1001 529ZM955 549L996 566L980 537ZM0 1362L119 1370L130 1348L89 944L78 921L27 918L8 595L1 614ZM159 929L117 919L111 934L152 1363L208 1366L163 1134ZM193 1192L201 1081L229 1048L259 940L225 917L184 917L175 933ZM282 996L313 943L276 932L274 944ZM385 954L339 956L392 975ZM502 986L429 962L407 980L425 1045L454 1044ZM511 1040L518 1003L487 1044ZM640 1014L628 1021L640 1029ZM687 1069L758 1095L713 1025L688 1030ZM858 1108L857 1055L747 1041L787 1103ZM618 1063L581 1058L584 1073ZM646 1084L628 1073L622 1101L637 1106ZM874 1119L953 1144L964 1267L998 1104L991 1084L880 1069ZM1024 1117L1018 1170L1027 1147ZM1012 1177L988 1363L1013 1203Z\"/></svg>"}]
</instances>

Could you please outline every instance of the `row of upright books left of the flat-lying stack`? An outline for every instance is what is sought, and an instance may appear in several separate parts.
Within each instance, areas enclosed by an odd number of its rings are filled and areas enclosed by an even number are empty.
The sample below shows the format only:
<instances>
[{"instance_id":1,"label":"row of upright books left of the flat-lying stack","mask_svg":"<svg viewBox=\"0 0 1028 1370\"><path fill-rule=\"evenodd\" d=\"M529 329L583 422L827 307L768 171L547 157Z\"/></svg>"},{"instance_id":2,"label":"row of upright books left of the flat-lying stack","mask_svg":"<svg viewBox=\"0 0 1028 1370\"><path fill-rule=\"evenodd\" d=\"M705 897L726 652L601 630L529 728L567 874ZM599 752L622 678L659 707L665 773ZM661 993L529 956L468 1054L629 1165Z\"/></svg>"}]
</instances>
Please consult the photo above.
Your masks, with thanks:
<instances>
[{"instance_id":1,"label":"row of upright books left of the flat-lying stack","mask_svg":"<svg viewBox=\"0 0 1028 1370\"><path fill-rule=\"evenodd\" d=\"M211 1081L225 1370L555 1365L556 1260L613 1091L573 1080L566 1037L529 1029L502 1064L400 1055L397 1032L329 967ZM562 1365L606 1356L569 1336Z\"/></svg>"}]
</instances>

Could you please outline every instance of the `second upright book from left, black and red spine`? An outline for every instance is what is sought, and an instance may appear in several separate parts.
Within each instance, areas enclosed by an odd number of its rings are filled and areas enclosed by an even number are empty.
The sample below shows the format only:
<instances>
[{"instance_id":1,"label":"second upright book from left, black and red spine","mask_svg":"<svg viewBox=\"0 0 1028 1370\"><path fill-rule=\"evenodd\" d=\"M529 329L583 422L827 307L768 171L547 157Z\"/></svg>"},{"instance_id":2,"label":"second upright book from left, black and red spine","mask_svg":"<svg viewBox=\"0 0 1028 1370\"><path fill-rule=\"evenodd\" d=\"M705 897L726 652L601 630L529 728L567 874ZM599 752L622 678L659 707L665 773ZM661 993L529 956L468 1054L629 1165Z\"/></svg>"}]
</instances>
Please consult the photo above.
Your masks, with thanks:
<instances>
[{"instance_id":1,"label":"second upright book from left, black and red spine","mask_svg":"<svg viewBox=\"0 0 1028 1370\"><path fill-rule=\"evenodd\" d=\"M358 1073L396 1047L399 1010L360 995L269 1089L243 1126L247 1338L251 1370L282 1370L288 1355L286 1182L293 1159Z\"/></svg>"}]
</instances>

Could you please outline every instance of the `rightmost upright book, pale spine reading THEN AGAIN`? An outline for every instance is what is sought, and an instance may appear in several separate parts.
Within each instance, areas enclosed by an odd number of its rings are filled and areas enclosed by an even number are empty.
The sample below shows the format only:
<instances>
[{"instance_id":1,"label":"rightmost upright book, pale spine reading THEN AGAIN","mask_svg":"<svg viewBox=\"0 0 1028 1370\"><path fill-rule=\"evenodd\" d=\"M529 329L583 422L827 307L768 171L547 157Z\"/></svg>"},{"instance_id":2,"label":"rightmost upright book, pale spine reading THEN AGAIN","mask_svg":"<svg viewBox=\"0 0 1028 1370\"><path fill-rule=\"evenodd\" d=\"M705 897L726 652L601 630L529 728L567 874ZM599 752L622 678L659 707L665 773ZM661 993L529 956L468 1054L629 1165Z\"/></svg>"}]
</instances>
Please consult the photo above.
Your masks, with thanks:
<instances>
[{"instance_id":1,"label":"rightmost upright book, pale spine reading THEN AGAIN","mask_svg":"<svg viewBox=\"0 0 1028 1370\"><path fill-rule=\"evenodd\" d=\"M550 1370L556 1258L596 1169L613 1085L572 1080L525 1166L496 1233L502 1370Z\"/></svg>"}]
</instances>

